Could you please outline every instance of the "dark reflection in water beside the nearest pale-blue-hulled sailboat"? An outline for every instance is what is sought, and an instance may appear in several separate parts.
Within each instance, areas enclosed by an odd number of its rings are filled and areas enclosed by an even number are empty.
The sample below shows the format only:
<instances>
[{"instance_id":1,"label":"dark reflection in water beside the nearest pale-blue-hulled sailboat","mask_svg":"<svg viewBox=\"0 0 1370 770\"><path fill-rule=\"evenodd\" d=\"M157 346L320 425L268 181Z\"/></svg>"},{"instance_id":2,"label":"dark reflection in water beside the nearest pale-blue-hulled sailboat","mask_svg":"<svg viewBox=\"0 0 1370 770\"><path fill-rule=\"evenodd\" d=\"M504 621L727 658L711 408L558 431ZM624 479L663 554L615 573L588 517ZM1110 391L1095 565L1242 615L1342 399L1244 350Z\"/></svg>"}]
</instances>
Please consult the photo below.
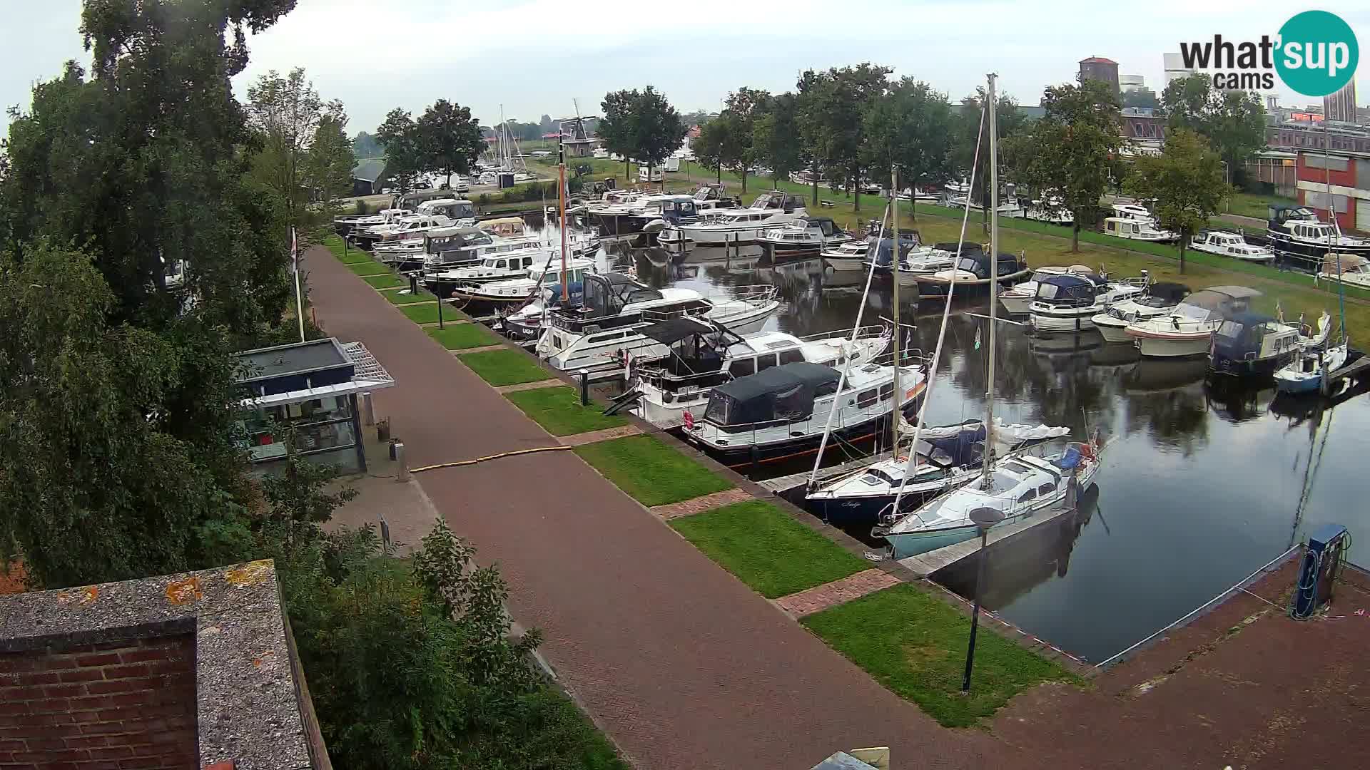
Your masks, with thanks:
<instances>
[{"instance_id":1,"label":"dark reflection in water beside the nearest pale-blue-hulled sailboat","mask_svg":"<svg viewBox=\"0 0 1370 770\"><path fill-rule=\"evenodd\" d=\"M1099 511L1099 485L1091 484L1077 500L1074 512L1037 525L988 548L985 585L980 603L989 611L1012 604L1021 596L1070 569L1075 541ZM1100 517L1100 521L1103 517ZM966 600L975 597L975 573L986 551L933 573L932 578Z\"/></svg>"}]
</instances>

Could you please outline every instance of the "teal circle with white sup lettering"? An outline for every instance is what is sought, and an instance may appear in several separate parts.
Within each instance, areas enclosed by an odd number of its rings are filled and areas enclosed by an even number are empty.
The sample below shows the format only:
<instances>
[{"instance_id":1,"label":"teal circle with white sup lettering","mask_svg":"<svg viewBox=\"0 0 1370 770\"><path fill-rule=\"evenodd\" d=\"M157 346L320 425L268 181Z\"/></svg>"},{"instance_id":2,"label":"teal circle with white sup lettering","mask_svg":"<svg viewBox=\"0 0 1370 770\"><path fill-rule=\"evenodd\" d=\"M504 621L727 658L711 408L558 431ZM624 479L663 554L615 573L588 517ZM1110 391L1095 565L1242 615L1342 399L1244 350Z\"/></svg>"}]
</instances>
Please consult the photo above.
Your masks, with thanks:
<instances>
[{"instance_id":1,"label":"teal circle with white sup lettering","mask_svg":"<svg viewBox=\"0 0 1370 770\"><path fill-rule=\"evenodd\" d=\"M1341 16L1304 11L1280 27L1275 71L1304 96L1326 96L1351 82L1360 62L1356 34Z\"/></svg>"}]
</instances>

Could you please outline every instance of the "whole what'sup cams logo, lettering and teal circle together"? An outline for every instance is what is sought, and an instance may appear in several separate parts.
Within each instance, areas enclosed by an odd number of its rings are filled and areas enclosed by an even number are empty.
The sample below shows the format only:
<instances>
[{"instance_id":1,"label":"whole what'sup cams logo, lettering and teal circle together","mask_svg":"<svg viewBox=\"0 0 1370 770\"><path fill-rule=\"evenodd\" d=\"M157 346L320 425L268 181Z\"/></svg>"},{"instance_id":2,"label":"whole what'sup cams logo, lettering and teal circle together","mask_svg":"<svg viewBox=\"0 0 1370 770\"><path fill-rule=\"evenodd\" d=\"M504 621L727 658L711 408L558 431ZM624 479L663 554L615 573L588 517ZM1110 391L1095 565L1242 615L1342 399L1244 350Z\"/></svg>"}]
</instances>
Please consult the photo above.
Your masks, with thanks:
<instances>
[{"instance_id":1,"label":"whole what'sup cams logo, lettering and teal circle together","mask_svg":"<svg viewBox=\"0 0 1370 770\"><path fill-rule=\"evenodd\" d=\"M1328 11L1304 11L1280 27L1271 38L1232 42L1221 34L1211 41L1181 42L1185 69L1217 70L1212 86L1219 89L1271 90L1275 74L1303 96L1326 96L1351 81L1360 62L1356 34L1341 16Z\"/></svg>"}]
</instances>

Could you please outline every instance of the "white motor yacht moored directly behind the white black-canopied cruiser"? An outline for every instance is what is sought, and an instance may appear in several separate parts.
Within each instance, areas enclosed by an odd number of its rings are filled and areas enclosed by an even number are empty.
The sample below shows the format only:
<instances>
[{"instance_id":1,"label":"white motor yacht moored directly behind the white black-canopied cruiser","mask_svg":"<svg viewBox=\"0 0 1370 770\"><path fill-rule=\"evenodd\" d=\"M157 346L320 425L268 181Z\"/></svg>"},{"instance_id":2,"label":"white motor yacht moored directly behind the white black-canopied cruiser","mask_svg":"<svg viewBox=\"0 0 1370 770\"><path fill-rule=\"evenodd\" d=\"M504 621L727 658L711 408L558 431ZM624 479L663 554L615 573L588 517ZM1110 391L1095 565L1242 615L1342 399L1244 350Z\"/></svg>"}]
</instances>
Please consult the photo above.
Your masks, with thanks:
<instances>
[{"instance_id":1,"label":"white motor yacht moored directly behind the white black-canopied cruiser","mask_svg":"<svg viewBox=\"0 0 1370 770\"><path fill-rule=\"evenodd\" d=\"M619 369L627 353L667 355L666 345L641 330L671 318L717 321L737 334L760 332L780 310L775 295L775 286L764 285L733 286L706 297L693 289L652 289L616 273L588 274L581 306L547 314L537 353L560 370Z\"/></svg>"}]
</instances>

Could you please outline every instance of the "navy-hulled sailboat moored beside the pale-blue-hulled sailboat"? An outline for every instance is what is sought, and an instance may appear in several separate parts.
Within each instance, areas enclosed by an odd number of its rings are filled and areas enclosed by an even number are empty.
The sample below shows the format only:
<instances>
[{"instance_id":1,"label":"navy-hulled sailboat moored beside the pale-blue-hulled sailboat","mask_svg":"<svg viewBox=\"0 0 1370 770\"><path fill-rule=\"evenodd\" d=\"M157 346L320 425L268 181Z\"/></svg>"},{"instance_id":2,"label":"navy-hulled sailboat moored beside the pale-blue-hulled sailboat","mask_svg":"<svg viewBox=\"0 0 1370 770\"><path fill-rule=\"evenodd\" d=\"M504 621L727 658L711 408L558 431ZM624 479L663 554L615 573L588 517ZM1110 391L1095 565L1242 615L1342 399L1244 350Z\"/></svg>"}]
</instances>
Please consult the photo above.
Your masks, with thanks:
<instances>
[{"instance_id":1,"label":"navy-hulled sailboat moored beside the pale-blue-hulled sailboat","mask_svg":"<svg viewBox=\"0 0 1370 770\"><path fill-rule=\"evenodd\" d=\"M907 423L901 433L911 433ZM1006 454L1043 441L1060 438L1069 427L1045 425L995 425L996 454ZM903 485L900 508L910 511L936 495L955 489L980 475L985 449L985 423L969 419L958 425L923 427L919 430L918 449L914 452L912 475L908 481L910 458L886 458L863 469L823 482L804 496L807 507L823 521L834 525L878 521L881 511L892 510Z\"/></svg>"}]
</instances>

